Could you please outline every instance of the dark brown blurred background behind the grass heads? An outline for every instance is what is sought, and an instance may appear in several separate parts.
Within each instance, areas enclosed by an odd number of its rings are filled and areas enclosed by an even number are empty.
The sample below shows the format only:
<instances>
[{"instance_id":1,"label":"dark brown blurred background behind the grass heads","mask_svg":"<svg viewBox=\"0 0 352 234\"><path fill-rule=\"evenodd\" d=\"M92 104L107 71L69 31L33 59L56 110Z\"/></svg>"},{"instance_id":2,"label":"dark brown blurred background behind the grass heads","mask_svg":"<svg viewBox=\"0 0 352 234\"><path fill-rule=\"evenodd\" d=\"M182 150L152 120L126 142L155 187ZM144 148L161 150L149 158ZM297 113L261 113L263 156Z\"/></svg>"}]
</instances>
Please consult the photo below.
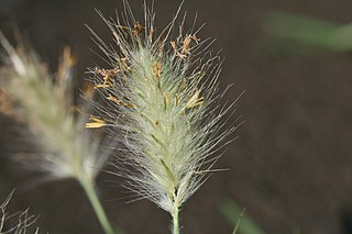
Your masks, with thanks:
<instances>
[{"instance_id":1,"label":"dark brown blurred background behind the grass heads","mask_svg":"<svg viewBox=\"0 0 352 234\"><path fill-rule=\"evenodd\" d=\"M143 21L143 1L130 3ZM178 5L179 1L155 1L157 29L169 22ZM116 9L122 11L122 2L0 0L0 30L9 37L13 29L20 30L53 70L64 46L70 45L79 59L77 76L84 79L87 66L101 64L90 51L98 48L85 24L110 37L95 8L114 16ZM186 0L184 10L189 23L199 12L198 25L207 23L199 36L217 38L215 51L222 49L221 88L234 82L227 98L235 100L245 90L231 119L243 114L245 123L217 166L231 170L215 174L184 205L183 233L231 233L232 226L219 211L224 198L246 208L245 215L265 233L352 233L350 48L297 40L299 23L285 37L275 29L289 31L292 24L280 18L273 23L270 18L271 12L283 12L343 26L352 22L352 1ZM314 31L309 29L304 35ZM315 36L319 41L324 35ZM352 41L349 33L344 36L344 42ZM102 233L75 181L20 189L31 175L9 160L11 153L4 151L15 140L9 123L0 119L0 199L19 189L9 211L31 207L41 214L37 224L44 233ZM99 190L114 223L131 234L168 232L166 212L148 201L124 203L111 179L116 178L102 174Z\"/></svg>"}]
</instances>

